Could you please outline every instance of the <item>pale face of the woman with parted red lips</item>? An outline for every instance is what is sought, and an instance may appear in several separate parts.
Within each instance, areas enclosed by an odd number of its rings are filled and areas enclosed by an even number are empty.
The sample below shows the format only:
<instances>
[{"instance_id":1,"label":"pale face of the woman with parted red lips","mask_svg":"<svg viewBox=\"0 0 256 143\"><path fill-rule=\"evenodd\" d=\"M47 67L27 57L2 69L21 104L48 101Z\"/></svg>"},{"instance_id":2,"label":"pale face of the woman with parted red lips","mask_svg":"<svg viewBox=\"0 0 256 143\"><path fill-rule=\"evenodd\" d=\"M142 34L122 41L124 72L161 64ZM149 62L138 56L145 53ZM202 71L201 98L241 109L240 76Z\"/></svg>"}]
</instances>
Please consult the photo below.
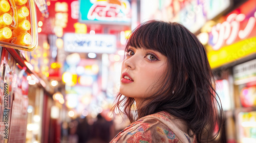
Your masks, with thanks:
<instances>
[{"instance_id":1,"label":"pale face of the woman with parted red lips","mask_svg":"<svg viewBox=\"0 0 256 143\"><path fill-rule=\"evenodd\" d=\"M138 104L161 87L166 67L167 57L161 53L129 47L122 63L120 93Z\"/></svg>"}]
</instances>

